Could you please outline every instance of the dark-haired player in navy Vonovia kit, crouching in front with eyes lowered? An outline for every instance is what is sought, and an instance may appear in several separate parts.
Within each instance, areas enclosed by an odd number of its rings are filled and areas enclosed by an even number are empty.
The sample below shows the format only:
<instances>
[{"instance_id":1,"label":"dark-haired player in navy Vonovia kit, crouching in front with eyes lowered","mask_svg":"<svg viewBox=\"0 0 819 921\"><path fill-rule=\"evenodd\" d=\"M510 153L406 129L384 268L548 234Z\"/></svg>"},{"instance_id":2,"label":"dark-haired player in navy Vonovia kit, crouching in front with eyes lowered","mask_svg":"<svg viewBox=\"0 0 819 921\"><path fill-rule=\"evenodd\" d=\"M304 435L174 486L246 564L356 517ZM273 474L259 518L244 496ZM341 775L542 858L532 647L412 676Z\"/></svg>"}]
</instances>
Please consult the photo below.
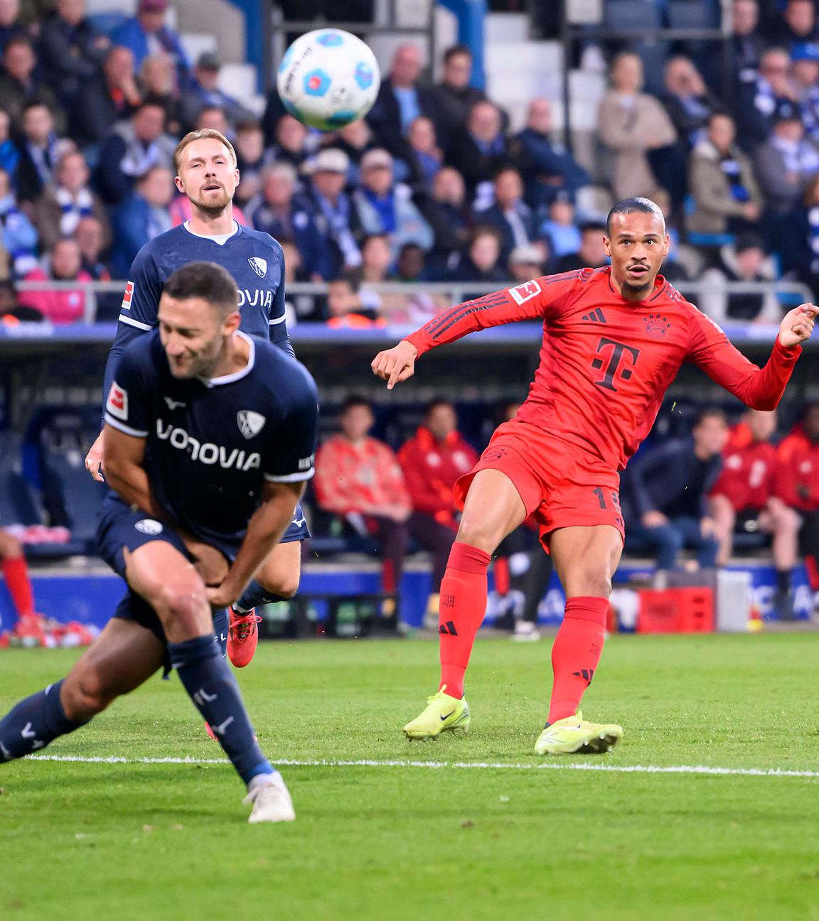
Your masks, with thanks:
<instances>
[{"instance_id":1,"label":"dark-haired player in navy Vonovia kit, crouching in front with eyes lowered","mask_svg":"<svg viewBox=\"0 0 819 921\"><path fill-rule=\"evenodd\" d=\"M304 367L240 332L237 302L224 269L189 264L165 286L158 332L123 351L105 409L112 491L98 536L128 593L63 681L0 720L0 762L79 729L164 664L247 784L250 821L288 822L287 787L214 628L293 517L313 473L318 407Z\"/></svg>"}]
</instances>

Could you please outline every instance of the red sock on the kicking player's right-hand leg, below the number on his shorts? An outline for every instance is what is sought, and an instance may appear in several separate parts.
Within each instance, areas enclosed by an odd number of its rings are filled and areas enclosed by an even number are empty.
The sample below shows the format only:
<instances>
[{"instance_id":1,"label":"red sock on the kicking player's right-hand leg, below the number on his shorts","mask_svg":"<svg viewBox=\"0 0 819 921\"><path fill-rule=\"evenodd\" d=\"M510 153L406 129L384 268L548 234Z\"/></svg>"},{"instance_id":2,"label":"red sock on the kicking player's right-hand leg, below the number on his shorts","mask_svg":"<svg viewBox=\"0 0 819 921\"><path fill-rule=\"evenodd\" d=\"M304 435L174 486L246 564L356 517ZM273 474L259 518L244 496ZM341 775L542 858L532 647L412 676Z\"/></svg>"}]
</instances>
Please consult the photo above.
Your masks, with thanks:
<instances>
[{"instance_id":1,"label":"red sock on the kicking player's right-hand leg, below the number on his shorts","mask_svg":"<svg viewBox=\"0 0 819 921\"><path fill-rule=\"evenodd\" d=\"M563 623L552 647L552 700L548 722L578 712L580 698L591 684L605 639L606 598L568 598Z\"/></svg>"}]
</instances>

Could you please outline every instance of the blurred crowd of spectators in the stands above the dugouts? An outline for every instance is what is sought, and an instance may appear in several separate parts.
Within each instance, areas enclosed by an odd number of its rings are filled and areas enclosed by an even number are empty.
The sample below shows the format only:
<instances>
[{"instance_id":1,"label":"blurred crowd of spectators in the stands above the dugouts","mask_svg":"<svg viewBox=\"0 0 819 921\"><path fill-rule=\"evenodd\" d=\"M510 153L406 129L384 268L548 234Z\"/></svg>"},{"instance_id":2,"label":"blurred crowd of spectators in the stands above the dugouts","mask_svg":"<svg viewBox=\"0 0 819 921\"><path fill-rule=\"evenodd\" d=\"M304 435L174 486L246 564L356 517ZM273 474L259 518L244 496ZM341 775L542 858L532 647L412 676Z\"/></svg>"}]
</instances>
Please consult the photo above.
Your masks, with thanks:
<instances>
[{"instance_id":1,"label":"blurred crowd of spectators in the stands above the dugouts","mask_svg":"<svg viewBox=\"0 0 819 921\"><path fill-rule=\"evenodd\" d=\"M187 218L173 148L211 127L236 147L237 220L286 245L289 280L345 279L348 296L334 309L320 299L298 319L412 322L439 302L382 298L370 286L482 290L604 264L606 204L630 195L655 198L668 217L671 280L708 271L715 293L703 306L715 319L781 313L776 297L729 297L725 282L819 287L813 0L733 0L727 85L713 46L671 46L656 95L644 89L638 51L606 46L601 169L558 139L549 99L530 100L514 130L471 85L462 45L444 52L438 83L423 78L428 62L415 44L400 46L366 119L338 132L306 128L275 90L257 118L219 87L215 53L187 59L167 6L136 0L135 16L107 34L84 0L54 0L33 19L21 17L19 0L0 0L0 277L125 278L148 239ZM29 294L22 303L73 321L64 300Z\"/></svg>"}]
</instances>

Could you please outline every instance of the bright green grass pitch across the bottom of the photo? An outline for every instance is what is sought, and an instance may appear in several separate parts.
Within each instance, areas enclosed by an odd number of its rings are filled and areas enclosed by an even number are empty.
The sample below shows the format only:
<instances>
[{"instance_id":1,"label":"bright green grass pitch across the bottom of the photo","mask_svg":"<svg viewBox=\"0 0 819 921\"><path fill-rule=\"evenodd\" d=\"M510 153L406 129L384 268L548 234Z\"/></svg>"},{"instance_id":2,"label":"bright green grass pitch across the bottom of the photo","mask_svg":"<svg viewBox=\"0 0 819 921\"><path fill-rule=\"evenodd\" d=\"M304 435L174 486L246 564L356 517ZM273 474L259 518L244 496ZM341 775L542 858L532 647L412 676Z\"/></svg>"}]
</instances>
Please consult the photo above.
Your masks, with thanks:
<instances>
[{"instance_id":1,"label":"bright green grass pitch across the bottom of the photo","mask_svg":"<svg viewBox=\"0 0 819 921\"><path fill-rule=\"evenodd\" d=\"M401 727L435 691L421 641L263 644L240 682L263 747L301 762L543 764L549 642L479 642L472 731ZM584 702L620 749L547 764L819 772L819 635L618 636ZM0 653L0 711L71 652ZM175 679L53 755L219 756ZM0 766L3 921L819 918L819 779L289 766L298 821L249 826L219 764Z\"/></svg>"}]
</instances>

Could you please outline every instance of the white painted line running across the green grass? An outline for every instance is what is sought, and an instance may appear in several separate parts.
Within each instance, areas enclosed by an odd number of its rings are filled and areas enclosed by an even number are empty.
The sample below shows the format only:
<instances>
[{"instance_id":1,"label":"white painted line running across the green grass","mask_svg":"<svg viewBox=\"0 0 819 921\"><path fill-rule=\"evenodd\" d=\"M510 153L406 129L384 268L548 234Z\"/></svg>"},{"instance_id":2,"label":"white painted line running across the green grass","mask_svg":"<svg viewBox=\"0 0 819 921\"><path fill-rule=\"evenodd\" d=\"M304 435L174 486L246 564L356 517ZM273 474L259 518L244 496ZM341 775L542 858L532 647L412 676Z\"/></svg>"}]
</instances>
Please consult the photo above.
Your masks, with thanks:
<instances>
[{"instance_id":1,"label":"white painted line running across the green grass","mask_svg":"<svg viewBox=\"0 0 819 921\"><path fill-rule=\"evenodd\" d=\"M223 764L224 758L120 758L115 755L92 757L73 754L30 754L26 761L56 761L75 764ZM289 767L426 767L432 769L458 768L483 771L599 771L607 774L696 774L708 776L740 777L807 777L819 778L819 771L792 771L778 767L711 767L707 764L675 764L659 767L655 764L510 764L508 762L472 761L377 761L362 758L351 761L316 760L302 761L293 758L275 759L274 764Z\"/></svg>"}]
</instances>

